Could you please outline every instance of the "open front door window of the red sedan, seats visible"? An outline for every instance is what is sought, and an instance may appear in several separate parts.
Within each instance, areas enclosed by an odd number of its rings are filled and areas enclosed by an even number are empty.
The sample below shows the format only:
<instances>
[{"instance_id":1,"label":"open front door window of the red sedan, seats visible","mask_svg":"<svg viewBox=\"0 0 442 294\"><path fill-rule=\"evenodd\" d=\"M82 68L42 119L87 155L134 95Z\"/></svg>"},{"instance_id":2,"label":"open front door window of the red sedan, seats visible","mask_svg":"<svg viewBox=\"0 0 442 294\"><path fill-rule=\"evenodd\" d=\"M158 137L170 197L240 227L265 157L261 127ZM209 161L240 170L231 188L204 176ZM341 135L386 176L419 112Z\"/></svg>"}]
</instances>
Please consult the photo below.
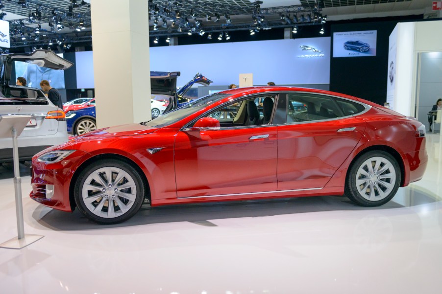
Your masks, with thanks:
<instances>
[{"instance_id":1,"label":"open front door window of the red sedan, seats visible","mask_svg":"<svg viewBox=\"0 0 442 294\"><path fill-rule=\"evenodd\" d=\"M274 96L255 96L230 103L207 116L219 119L221 127L266 125L271 122L274 102Z\"/></svg>"}]
</instances>

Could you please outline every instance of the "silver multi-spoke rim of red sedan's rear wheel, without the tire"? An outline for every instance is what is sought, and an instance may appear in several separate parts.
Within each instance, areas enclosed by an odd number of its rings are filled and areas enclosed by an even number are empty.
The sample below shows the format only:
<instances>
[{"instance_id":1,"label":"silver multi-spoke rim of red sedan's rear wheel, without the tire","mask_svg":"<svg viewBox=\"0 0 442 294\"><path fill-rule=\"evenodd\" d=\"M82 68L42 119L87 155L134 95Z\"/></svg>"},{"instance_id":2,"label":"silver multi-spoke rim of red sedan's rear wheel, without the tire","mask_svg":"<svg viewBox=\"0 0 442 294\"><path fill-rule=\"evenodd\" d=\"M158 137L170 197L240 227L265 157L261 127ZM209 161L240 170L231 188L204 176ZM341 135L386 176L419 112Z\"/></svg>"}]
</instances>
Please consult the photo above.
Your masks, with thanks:
<instances>
[{"instance_id":1,"label":"silver multi-spoke rim of red sedan's rear wheel, without the tire","mask_svg":"<svg viewBox=\"0 0 442 294\"><path fill-rule=\"evenodd\" d=\"M364 161L356 173L358 193L369 201L379 201L390 195L396 182L393 163L384 157Z\"/></svg>"}]
</instances>

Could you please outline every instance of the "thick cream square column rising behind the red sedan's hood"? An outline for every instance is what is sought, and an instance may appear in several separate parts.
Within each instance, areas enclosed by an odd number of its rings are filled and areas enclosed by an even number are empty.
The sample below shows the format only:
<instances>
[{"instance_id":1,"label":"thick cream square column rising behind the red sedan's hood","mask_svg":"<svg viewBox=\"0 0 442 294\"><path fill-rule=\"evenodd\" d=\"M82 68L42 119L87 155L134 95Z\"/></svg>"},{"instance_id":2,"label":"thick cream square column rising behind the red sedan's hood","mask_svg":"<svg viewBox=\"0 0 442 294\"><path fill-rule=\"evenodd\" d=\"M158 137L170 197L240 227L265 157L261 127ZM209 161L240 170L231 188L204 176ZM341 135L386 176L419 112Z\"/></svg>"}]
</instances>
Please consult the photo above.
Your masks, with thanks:
<instances>
[{"instance_id":1,"label":"thick cream square column rising behind the red sedan's hood","mask_svg":"<svg viewBox=\"0 0 442 294\"><path fill-rule=\"evenodd\" d=\"M151 118L147 0L91 1L97 127Z\"/></svg>"}]
</instances>

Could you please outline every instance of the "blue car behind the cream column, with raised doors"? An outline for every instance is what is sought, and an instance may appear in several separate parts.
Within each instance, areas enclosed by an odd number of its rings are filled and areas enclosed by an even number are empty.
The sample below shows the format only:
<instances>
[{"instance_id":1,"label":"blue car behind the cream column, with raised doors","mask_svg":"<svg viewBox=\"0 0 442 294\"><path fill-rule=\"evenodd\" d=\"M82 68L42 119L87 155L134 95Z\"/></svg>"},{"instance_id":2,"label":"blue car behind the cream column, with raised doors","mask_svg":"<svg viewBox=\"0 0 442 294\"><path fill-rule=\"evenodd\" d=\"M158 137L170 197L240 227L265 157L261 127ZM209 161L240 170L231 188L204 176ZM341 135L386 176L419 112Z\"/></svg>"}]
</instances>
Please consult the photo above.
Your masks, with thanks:
<instances>
[{"instance_id":1,"label":"blue car behind the cream column, with raised doors","mask_svg":"<svg viewBox=\"0 0 442 294\"><path fill-rule=\"evenodd\" d=\"M180 75L179 71L165 72L165 71L151 71L150 72L150 91L152 94L164 95L165 99L169 100L164 113L169 112L175 108L186 105L192 99L184 96L194 84L201 84L208 86L212 83L211 80L197 73L195 77L186 85L176 90L176 79ZM95 113L95 106L87 107L66 113L66 123L68 133L74 135L83 135L97 129L97 118Z\"/></svg>"}]
</instances>

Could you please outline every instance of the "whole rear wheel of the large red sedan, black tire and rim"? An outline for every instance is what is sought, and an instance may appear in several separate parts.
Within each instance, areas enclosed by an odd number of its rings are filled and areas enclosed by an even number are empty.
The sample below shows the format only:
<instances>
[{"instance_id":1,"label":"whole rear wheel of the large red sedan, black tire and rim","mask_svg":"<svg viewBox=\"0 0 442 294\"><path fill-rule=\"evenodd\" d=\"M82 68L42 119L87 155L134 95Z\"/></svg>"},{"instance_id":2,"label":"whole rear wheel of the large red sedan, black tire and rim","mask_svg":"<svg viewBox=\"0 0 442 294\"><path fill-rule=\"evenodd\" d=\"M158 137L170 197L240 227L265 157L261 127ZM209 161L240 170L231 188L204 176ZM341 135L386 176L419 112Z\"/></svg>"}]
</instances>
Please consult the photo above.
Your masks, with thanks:
<instances>
[{"instance_id":1,"label":"whole rear wheel of the large red sedan, black tire and rim","mask_svg":"<svg viewBox=\"0 0 442 294\"><path fill-rule=\"evenodd\" d=\"M401 176L399 164L392 155L380 150L369 151L350 166L345 195L361 206L386 204L396 194Z\"/></svg>"}]
</instances>

